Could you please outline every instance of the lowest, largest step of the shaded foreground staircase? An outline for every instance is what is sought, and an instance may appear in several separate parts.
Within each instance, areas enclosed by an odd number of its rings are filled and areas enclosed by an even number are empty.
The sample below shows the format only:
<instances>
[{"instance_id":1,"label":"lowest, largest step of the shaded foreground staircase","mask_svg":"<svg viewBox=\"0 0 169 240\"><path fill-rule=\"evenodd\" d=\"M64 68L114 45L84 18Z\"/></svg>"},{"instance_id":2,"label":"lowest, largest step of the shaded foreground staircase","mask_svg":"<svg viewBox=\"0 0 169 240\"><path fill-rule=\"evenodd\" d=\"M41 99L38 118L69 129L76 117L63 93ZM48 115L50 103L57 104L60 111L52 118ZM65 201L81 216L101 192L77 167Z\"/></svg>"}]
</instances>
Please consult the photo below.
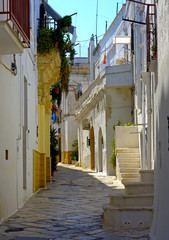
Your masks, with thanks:
<instances>
[{"instance_id":1,"label":"lowest, largest step of the shaded foreground staircase","mask_svg":"<svg viewBox=\"0 0 169 240\"><path fill-rule=\"evenodd\" d=\"M145 229L152 224L152 207L115 208L107 204L103 210L103 224L114 231Z\"/></svg>"}]
</instances>

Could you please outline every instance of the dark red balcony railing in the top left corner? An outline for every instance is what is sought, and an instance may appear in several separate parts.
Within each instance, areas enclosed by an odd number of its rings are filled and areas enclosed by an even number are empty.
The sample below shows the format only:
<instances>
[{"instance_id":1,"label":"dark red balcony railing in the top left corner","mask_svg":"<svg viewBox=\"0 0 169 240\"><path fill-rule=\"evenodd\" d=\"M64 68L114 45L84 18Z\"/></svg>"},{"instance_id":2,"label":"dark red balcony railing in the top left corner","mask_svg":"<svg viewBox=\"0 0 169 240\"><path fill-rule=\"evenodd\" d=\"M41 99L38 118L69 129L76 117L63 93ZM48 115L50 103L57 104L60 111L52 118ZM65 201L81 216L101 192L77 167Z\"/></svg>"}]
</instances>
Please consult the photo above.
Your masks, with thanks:
<instances>
[{"instance_id":1,"label":"dark red balcony railing in the top left corner","mask_svg":"<svg viewBox=\"0 0 169 240\"><path fill-rule=\"evenodd\" d=\"M30 47L29 0L0 0L0 21L8 21L24 47Z\"/></svg>"}]
</instances>

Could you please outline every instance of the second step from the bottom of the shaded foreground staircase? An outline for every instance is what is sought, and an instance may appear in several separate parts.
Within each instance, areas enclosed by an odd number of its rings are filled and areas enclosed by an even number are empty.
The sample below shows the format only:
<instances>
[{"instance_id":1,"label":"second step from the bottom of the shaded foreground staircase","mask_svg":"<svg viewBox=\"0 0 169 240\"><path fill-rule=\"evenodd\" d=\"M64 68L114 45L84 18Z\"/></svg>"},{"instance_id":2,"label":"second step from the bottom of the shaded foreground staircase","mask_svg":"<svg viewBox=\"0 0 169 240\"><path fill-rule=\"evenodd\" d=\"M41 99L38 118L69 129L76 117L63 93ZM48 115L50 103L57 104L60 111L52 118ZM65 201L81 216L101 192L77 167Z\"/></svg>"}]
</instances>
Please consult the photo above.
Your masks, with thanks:
<instances>
[{"instance_id":1,"label":"second step from the bottom of the shaded foreground staircase","mask_svg":"<svg viewBox=\"0 0 169 240\"><path fill-rule=\"evenodd\" d=\"M145 207L153 206L154 195L142 194L142 195L110 195L110 206L113 207Z\"/></svg>"}]
</instances>

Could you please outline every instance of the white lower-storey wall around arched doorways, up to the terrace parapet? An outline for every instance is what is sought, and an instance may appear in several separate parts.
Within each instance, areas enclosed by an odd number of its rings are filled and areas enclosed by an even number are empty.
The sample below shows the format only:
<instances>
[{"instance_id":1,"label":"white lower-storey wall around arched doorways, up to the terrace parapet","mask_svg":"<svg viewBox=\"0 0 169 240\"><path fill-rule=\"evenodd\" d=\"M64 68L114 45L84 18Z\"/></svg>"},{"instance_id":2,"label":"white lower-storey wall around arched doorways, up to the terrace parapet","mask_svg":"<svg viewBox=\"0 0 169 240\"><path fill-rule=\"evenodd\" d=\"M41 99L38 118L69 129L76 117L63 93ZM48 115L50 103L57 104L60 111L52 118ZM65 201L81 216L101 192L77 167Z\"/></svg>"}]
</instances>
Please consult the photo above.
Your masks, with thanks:
<instances>
[{"instance_id":1,"label":"white lower-storey wall around arched doorways, up to the terrace parapet","mask_svg":"<svg viewBox=\"0 0 169 240\"><path fill-rule=\"evenodd\" d=\"M113 153L114 139L113 124L118 120L123 123L132 121L131 84L132 74L130 65L106 68L100 74L76 104L76 119L80 126L82 142L81 166L91 168L90 146L86 139L90 138L91 127L95 136L95 169L106 175L115 174L110 159ZM89 130L82 130L83 120L90 123ZM100 167L99 131L102 133L102 167Z\"/></svg>"}]
</instances>

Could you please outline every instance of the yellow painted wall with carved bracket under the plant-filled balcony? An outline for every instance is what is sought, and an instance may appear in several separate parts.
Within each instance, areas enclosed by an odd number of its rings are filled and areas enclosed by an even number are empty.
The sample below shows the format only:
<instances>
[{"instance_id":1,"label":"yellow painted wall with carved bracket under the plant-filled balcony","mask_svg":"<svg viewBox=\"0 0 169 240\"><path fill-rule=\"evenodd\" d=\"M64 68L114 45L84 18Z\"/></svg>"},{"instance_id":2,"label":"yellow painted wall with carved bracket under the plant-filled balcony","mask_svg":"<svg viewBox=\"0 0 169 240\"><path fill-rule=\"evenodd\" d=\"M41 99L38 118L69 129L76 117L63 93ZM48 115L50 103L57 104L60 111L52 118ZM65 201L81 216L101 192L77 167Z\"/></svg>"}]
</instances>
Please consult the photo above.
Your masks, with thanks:
<instances>
[{"instance_id":1,"label":"yellow painted wall with carved bracket under the plant-filled balcony","mask_svg":"<svg viewBox=\"0 0 169 240\"><path fill-rule=\"evenodd\" d=\"M49 61L52 59L53 61ZM38 63L38 152L34 151L34 192L51 182L50 158L50 86L60 79L60 54L53 50L37 55Z\"/></svg>"}]
</instances>

